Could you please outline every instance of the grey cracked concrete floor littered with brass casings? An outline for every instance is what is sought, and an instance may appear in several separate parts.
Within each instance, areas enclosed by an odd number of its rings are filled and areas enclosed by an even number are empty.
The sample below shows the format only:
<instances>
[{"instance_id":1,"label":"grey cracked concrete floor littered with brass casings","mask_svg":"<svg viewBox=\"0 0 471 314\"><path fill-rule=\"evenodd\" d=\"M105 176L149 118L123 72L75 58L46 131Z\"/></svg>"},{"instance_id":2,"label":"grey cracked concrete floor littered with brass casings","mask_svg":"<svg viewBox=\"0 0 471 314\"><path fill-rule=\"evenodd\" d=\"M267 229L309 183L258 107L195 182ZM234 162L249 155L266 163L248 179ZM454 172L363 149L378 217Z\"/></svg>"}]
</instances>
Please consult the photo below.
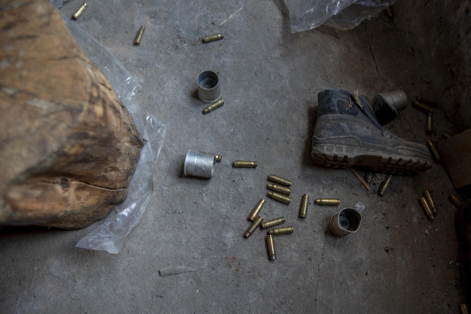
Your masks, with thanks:
<instances>
[{"instance_id":1,"label":"grey cracked concrete floor littered with brass casings","mask_svg":"<svg viewBox=\"0 0 471 314\"><path fill-rule=\"evenodd\" d=\"M456 52L433 41L449 34L418 28L427 24L417 12L434 4L398 0L394 22L380 14L351 31L321 26L291 34L281 0L87 2L77 23L142 78L135 100L166 125L154 198L117 255L74 247L96 226L3 228L1 312L458 313L464 261L445 169L394 177L379 197L385 175L377 174L368 192L350 170L324 169L310 158L317 93L325 88L432 97L441 102L432 138L459 131L445 102L449 90L442 93L453 86L446 60ZM61 11L71 15L80 4L70 0ZM439 8L433 11L438 19ZM216 32L224 40L201 43ZM207 115L194 96L204 70L219 73L225 101ZM424 125L425 115L408 107L388 129L425 143ZM183 176L188 149L223 156L212 179ZM259 166L235 169L236 159ZM293 181L289 206L267 199L262 210L266 219L286 216L295 230L275 239L274 262L264 232L242 237L270 173ZM419 207L424 189L438 204L434 221ZM301 220L304 193L338 197L341 206L311 203ZM330 216L358 202L366 205L358 233L333 236ZM197 270L159 276L158 269L179 265Z\"/></svg>"}]
</instances>

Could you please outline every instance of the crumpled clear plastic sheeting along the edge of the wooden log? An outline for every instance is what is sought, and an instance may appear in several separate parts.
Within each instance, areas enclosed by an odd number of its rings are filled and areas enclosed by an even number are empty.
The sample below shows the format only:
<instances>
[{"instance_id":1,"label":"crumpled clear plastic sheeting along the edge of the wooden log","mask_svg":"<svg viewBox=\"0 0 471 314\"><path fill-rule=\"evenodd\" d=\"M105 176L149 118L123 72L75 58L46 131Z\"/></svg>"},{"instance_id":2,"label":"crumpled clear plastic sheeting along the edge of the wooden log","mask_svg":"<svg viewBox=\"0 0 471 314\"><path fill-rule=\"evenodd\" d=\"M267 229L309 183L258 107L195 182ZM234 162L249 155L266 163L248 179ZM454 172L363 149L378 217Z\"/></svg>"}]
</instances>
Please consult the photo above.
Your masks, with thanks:
<instances>
[{"instance_id":1,"label":"crumpled clear plastic sheeting along the edge of the wooden log","mask_svg":"<svg viewBox=\"0 0 471 314\"><path fill-rule=\"evenodd\" d=\"M97 224L101 223L101 225L90 234L82 237L76 245L76 247L105 250L117 254L123 247L126 235L139 223L152 198L154 192L154 165L163 143L165 128L151 114L147 114L144 119L139 105L131 102L132 96L142 88L138 79L133 77L111 52L108 52L100 42L78 26L77 23L65 16L63 16L63 19L88 58L109 80L118 97L131 114L137 130L146 140L131 179L126 201L110 213L105 219L105 223L98 222Z\"/></svg>"}]
</instances>

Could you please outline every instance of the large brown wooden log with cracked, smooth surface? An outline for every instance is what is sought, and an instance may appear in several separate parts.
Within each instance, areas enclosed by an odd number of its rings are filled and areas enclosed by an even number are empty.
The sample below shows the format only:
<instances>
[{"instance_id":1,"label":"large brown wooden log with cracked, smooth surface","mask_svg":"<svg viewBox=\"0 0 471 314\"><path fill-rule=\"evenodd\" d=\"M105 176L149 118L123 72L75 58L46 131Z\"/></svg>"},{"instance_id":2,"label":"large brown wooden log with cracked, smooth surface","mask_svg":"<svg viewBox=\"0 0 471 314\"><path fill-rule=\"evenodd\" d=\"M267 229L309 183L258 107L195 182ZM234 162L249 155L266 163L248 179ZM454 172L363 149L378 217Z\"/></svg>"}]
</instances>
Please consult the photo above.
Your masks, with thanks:
<instances>
[{"instance_id":1,"label":"large brown wooden log with cracked, smooth surface","mask_svg":"<svg viewBox=\"0 0 471 314\"><path fill-rule=\"evenodd\" d=\"M0 0L0 225L83 228L124 202L143 139L48 0Z\"/></svg>"}]
</instances>

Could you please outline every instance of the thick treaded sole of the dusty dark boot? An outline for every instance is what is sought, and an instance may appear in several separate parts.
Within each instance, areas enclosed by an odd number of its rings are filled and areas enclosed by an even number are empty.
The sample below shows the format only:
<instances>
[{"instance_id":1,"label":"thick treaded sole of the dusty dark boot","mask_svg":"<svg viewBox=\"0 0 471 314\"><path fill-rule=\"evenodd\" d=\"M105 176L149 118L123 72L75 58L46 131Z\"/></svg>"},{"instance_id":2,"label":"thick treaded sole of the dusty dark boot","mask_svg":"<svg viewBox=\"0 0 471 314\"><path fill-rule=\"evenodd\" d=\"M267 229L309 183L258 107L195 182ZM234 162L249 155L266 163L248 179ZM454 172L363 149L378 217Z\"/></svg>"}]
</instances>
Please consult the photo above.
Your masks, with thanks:
<instances>
[{"instance_id":1,"label":"thick treaded sole of the dusty dark boot","mask_svg":"<svg viewBox=\"0 0 471 314\"><path fill-rule=\"evenodd\" d=\"M412 175L432 167L432 161L425 158L378 154L378 151L343 145L316 144L311 156L325 167L346 169L356 166L395 175Z\"/></svg>"}]
</instances>

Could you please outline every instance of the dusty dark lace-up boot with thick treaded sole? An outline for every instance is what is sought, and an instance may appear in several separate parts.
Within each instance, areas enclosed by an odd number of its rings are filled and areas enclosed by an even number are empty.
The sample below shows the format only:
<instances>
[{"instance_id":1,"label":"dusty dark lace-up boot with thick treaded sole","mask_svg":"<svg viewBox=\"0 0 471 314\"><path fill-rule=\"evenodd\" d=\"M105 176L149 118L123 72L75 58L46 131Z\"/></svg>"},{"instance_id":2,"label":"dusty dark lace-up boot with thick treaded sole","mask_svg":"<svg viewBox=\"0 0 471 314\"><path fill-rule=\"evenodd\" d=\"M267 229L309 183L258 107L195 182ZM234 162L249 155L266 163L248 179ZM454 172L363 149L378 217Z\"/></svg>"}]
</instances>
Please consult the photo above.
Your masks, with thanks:
<instances>
[{"instance_id":1,"label":"dusty dark lace-up boot with thick treaded sole","mask_svg":"<svg viewBox=\"0 0 471 314\"><path fill-rule=\"evenodd\" d=\"M408 175L432 167L425 145L384 130L362 95L328 89L317 95L318 109L311 156L322 166L355 166Z\"/></svg>"}]
</instances>

